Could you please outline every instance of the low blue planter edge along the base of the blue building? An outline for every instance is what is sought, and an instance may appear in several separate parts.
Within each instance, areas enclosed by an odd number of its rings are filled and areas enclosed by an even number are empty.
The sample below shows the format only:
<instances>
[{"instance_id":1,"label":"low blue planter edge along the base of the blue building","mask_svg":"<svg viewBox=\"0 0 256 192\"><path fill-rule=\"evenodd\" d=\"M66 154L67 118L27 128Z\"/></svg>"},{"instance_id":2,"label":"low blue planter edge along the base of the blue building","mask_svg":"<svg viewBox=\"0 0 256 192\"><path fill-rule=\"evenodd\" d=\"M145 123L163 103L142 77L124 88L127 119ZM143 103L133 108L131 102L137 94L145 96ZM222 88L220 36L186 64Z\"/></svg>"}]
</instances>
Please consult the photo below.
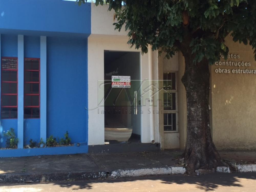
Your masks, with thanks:
<instances>
[{"instance_id":1,"label":"low blue planter edge along the base of the blue building","mask_svg":"<svg viewBox=\"0 0 256 192\"><path fill-rule=\"evenodd\" d=\"M26 157L37 155L65 155L88 153L88 145L70 147L45 147L31 149L6 149L0 150L0 157Z\"/></svg>"}]
</instances>

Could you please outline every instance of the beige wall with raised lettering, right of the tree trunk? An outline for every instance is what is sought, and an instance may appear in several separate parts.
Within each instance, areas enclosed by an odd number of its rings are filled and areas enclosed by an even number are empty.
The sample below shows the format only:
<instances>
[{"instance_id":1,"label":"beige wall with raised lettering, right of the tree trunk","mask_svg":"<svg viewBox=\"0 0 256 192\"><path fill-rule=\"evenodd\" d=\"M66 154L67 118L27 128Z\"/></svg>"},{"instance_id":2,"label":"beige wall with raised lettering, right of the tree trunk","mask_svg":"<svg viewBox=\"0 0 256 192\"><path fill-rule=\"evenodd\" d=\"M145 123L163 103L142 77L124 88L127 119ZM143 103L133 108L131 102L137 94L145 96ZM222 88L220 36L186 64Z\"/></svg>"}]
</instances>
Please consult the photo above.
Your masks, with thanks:
<instances>
[{"instance_id":1,"label":"beige wall with raised lettering, right of the tree trunk","mask_svg":"<svg viewBox=\"0 0 256 192\"><path fill-rule=\"evenodd\" d=\"M212 66L212 133L218 149L256 148L256 74L233 74L232 69L255 69L252 48L226 39L229 53L240 58L227 61L250 62L250 67ZM221 61L224 61L222 59ZM229 74L216 73L215 69L230 69Z\"/></svg>"}]
</instances>

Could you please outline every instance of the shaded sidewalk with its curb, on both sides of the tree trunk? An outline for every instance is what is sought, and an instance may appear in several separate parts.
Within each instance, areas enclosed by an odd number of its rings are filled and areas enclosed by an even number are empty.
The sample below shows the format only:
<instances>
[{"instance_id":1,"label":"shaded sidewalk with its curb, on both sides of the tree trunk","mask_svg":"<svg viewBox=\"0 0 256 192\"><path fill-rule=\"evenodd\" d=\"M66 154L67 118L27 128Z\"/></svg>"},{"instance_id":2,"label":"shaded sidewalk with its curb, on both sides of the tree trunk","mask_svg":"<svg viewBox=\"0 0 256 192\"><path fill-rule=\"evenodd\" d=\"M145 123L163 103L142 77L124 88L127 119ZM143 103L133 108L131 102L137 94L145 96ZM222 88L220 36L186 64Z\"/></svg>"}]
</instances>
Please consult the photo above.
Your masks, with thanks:
<instances>
[{"instance_id":1,"label":"shaded sidewalk with its curb, on both sides of the tree trunk","mask_svg":"<svg viewBox=\"0 0 256 192\"><path fill-rule=\"evenodd\" d=\"M0 183L45 182L185 173L181 150L0 158ZM220 152L225 159L256 163L256 152ZM243 164L243 163L242 163Z\"/></svg>"}]
</instances>

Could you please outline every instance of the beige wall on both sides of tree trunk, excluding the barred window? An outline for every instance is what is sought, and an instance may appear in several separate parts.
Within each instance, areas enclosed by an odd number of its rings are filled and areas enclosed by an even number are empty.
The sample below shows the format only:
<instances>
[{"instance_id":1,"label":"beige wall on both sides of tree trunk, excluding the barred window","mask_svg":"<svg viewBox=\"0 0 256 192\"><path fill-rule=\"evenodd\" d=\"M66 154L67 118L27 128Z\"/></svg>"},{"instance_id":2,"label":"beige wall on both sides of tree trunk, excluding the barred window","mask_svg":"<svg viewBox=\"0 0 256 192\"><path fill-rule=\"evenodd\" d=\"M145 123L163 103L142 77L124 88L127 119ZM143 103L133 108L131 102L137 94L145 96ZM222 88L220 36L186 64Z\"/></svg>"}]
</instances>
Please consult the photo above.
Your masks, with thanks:
<instances>
[{"instance_id":1,"label":"beige wall on both sides of tree trunk, excluding the barred window","mask_svg":"<svg viewBox=\"0 0 256 192\"><path fill-rule=\"evenodd\" d=\"M213 65L210 67L210 124L214 143L219 150L224 149L256 149L256 74L236 74L232 69L256 70L256 62L251 46L234 43L229 36L226 38L226 44L229 47L229 54L236 55L236 58L228 58L233 66ZM239 55L239 58L238 58ZM164 65L172 65L174 60L163 60L159 58L159 79L162 79ZM225 61L225 62L227 62ZM251 66L235 66L238 64L250 62ZM163 118L159 115L159 134L162 148L173 148L179 137L179 147L185 148L186 129L187 129L187 106L186 91L181 82L185 70L185 61L181 52L178 52L175 62L178 62L178 129L179 135L175 138L163 134ZM229 69L230 73L219 73L219 68ZM218 69L218 72L215 70ZM254 71L253 71L254 72ZM255 71L256 73L256 71ZM162 133L162 134L161 134Z\"/></svg>"}]
</instances>

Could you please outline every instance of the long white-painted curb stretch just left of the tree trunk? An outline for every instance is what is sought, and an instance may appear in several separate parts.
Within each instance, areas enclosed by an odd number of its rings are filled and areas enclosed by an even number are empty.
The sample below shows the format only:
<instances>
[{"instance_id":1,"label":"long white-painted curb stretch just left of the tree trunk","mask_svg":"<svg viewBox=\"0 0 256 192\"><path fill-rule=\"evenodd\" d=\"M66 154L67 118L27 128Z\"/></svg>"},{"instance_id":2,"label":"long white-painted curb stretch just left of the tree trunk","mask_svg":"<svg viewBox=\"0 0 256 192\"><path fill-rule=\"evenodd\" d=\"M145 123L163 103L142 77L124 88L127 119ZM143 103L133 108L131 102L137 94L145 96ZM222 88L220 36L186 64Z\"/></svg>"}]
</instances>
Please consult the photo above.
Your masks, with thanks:
<instances>
[{"instance_id":1,"label":"long white-painted curb stretch just left of the tree trunk","mask_svg":"<svg viewBox=\"0 0 256 192\"><path fill-rule=\"evenodd\" d=\"M168 174L184 174L184 167L159 167L159 168L142 168L142 169L118 169L111 172L111 178L121 177L141 177L147 175L168 175Z\"/></svg>"}]
</instances>

